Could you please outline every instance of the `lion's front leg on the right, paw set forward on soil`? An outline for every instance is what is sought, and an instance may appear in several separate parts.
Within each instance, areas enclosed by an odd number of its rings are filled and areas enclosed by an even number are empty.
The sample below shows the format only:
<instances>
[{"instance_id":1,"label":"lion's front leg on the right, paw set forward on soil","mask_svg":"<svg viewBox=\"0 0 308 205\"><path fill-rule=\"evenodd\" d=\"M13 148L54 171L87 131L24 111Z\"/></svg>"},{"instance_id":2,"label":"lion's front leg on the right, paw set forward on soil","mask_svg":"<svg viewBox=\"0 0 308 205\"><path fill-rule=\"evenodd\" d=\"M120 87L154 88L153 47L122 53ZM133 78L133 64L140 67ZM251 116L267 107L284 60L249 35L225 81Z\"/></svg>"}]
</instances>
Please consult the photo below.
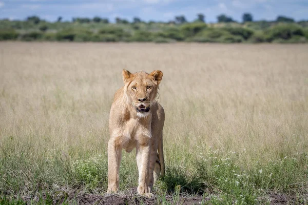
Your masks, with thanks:
<instances>
[{"instance_id":1,"label":"lion's front leg on the right, paw set forward on soil","mask_svg":"<svg viewBox=\"0 0 308 205\"><path fill-rule=\"evenodd\" d=\"M139 194L148 193L149 185L149 164L150 164L151 140L145 136L138 142L136 147L136 159L139 171L139 185L137 191Z\"/></svg>"}]
</instances>

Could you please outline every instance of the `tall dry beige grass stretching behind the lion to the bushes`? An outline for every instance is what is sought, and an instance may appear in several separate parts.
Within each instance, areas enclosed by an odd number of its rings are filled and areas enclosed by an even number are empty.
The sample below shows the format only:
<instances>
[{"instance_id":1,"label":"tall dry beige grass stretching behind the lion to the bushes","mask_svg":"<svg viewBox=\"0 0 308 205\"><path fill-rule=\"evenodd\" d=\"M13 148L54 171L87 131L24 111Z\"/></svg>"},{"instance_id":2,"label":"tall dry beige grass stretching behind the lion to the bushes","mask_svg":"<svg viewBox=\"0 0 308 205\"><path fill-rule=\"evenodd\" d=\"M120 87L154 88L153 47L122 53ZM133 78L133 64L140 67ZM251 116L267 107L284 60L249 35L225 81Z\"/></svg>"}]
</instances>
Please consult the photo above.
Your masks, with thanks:
<instances>
[{"instance_id":1,"label":"tall dry beige grass stretching behind the lion to the bushes","mask_svg":"<svg viewBox=\"0 0 308 205\"><path fill-rule=\"evenodd\" d=\"M307 56L307 45L1 43L0 155L26 155L30 167L106 157L126 68L164 73L167 166L211 151L236 152L243 169L296 158L308 150Z\"/></svg>"}]
</instances>

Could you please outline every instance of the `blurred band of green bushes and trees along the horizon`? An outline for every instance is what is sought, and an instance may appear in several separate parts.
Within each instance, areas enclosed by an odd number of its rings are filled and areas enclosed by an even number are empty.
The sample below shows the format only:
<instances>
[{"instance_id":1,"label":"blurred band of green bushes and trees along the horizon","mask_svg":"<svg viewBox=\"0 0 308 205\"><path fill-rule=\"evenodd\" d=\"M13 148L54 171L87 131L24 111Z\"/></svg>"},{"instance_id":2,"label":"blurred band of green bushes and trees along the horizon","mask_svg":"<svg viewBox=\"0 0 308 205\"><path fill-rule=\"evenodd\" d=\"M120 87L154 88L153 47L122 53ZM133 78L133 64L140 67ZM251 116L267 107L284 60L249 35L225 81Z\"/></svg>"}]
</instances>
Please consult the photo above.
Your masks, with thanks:
<instances>
[{"instance_id":1,"label":"blurred band of green bushes and trees along the horizon","mask_svg":"<svg viewBox=\"0 0 308 205\"><path fill-rule=\"evenodd\" d=\"M71 22L61 16L47 22L38 16L25 20L0 20L0 40L70 41L70 42L198 42L198 43L306 43L308 21L277 16L273 21L255 21L251 13L236 22L225 14L217 16L218 23L207 24L198 13L188 22L178 15L169 22L144 22L133 17L131 22L120 17L115 23L108 18L74 17Z\"/></svg>"}]
</instances>

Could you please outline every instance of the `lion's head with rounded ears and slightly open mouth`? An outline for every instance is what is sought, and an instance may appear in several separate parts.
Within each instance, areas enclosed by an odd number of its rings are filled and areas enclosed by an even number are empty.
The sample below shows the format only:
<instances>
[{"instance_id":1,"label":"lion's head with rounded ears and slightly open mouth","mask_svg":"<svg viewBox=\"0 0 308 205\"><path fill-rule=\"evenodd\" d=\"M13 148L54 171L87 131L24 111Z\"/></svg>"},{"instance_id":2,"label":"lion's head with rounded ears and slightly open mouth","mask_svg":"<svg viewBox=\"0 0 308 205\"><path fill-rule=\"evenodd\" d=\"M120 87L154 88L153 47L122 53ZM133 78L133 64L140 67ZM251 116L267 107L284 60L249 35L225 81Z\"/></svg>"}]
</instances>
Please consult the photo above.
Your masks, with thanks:
<instances>
[{"instance_id":1,"label":"lion's head with rounded ears and slightly open mouth","mask_svg":"<svg viewBox=\"0 0 308 205\"><path fill-rule=\"evenodd\" d=\"M139 115L147 115L150 111L150 105L156 98L158 85L162 80L163 73L155 70L150 74L146 72L130 73L123 69L124 92L139 113Z\"/></svg>"}]
</instances>

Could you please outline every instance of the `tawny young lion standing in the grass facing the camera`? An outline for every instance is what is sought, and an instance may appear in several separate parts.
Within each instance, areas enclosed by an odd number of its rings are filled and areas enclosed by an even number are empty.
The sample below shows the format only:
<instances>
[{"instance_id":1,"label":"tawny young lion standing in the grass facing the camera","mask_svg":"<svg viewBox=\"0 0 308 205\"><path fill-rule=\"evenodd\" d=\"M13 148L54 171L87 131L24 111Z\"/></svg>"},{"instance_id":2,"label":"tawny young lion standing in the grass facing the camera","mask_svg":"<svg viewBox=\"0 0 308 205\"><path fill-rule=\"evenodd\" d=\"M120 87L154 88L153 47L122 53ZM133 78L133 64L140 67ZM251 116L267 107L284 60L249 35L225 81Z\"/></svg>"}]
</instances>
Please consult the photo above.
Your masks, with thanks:
<instances>
[{"instance_id":1,"label":"tawny young lion standing in the grass facing the camera","mask_svg":"<svg viewBox=\"0 0 308 205\"><path fill-rule=\"evenodd\" d=\"M163 127L165 112L156 101L163 73L155 70L130 73L123 69L124 86L114 94L109 116L108 190L119 191L122 149L136 148L138 194L150 193L153 183L165 174Z\"/></svg>"}]
</instances>

